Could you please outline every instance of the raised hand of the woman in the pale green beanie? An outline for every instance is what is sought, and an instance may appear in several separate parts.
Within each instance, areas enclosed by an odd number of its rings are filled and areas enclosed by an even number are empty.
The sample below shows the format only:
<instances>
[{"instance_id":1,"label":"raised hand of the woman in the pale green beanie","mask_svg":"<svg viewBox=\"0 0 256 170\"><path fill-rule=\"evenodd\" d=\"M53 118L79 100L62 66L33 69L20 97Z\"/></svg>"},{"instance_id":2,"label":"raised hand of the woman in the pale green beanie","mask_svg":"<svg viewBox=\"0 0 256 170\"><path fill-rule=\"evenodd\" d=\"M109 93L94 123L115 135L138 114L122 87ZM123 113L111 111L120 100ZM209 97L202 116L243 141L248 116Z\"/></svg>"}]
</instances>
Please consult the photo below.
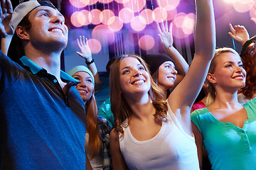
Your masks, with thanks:
<instances>
[{"instance_id":1,"label":"raised hand of the woman in the pale green beanie","mask_svg":"<svg viewBox=\"0 0 256 170\"><path fill-rule=\"evenodd\" d=\"M92 60L92 52L90 50L90 47L88 45L88 40L85 38L85 36L79 36L79 40L77 39L78 47L80 52L76 52L81 57L85 58L86 61Z\"/></svg>"}]
</instances>

